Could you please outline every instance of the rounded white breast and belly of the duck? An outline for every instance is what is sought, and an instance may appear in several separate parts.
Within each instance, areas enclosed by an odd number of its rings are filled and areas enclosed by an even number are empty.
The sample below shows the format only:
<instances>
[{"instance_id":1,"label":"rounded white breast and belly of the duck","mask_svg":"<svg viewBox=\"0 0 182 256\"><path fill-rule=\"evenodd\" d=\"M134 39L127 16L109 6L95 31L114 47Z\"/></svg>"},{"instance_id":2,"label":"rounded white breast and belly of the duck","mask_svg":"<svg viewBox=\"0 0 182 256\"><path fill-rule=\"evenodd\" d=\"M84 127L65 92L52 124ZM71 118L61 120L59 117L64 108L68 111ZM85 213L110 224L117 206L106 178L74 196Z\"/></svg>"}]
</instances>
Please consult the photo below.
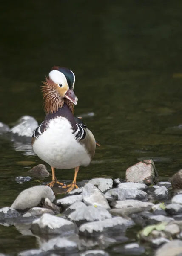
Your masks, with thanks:
<instances>
[{"instance_id":1,"label":"rounded white breast and belly of the duck","mask_svg":"<svg viewBox=\"0 0 182 256\"><path fill-rule=\"evenodd\" d=\"M65 117L52 119L47 130L34 141L33 149L40 159L57 169L88 166L91 162L85 147L75 140L71 123Z\"/></svg>"}]
</instances>

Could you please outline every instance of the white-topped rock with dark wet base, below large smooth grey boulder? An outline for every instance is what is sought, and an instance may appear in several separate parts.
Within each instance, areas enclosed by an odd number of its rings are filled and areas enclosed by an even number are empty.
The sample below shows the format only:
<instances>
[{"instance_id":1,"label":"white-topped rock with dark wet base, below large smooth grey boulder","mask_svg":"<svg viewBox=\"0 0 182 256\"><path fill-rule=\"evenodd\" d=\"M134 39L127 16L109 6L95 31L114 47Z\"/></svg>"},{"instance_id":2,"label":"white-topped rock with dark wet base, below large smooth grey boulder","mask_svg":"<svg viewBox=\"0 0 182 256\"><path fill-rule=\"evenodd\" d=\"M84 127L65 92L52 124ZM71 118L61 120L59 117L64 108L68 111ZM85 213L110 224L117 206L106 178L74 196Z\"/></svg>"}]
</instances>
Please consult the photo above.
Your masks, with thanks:
<instances>
[{"instance_id":1,"label":"white-topped rock with dark wet base, below large smooth grey boulder","mask_svg":"<svg viewBox=\"0 0 182 256\"><path fill-rule=\"evenodd\" d=\"M39 236L43 234L66 235L77 233L78 229L71 221L44 213L39 219L33 221L31 232Z\"/></svg>"}]
</instances>

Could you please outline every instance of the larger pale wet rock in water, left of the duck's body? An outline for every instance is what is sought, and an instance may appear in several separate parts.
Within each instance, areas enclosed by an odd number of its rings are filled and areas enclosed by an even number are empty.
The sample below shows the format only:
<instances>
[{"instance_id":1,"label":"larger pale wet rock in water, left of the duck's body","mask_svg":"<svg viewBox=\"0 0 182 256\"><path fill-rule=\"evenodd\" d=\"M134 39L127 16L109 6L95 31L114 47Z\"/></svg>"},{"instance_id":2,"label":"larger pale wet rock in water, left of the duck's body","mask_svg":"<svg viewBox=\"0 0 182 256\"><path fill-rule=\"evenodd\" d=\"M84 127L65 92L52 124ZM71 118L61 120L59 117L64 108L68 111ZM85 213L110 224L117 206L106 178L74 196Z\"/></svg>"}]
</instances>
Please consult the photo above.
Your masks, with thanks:
<instances>
[{"instance_id":1,"label":"larger pale wet rock in water, left of the duck's body","mask_svg":"<svg viewBox=\"0 0 182 256\"><path fill-rule=\"evenodd\" d=\"M10 129L12 134L17 136L32 137L34 130L37 128L38 122L32 116L22 116L18 119L17 124Z\"/></svg>"}]
</instances>

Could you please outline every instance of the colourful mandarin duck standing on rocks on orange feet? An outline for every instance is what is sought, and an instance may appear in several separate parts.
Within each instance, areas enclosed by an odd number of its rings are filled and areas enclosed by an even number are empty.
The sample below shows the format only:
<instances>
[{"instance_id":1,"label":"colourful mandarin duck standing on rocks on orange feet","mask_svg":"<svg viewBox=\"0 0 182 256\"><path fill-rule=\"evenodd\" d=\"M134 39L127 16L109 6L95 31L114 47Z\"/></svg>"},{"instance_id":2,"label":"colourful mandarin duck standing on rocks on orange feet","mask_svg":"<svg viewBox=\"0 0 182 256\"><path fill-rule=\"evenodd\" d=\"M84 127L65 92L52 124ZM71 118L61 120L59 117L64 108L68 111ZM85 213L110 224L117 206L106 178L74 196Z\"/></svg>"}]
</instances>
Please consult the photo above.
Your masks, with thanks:
<instances>
[{"instance_id":1,"label":"colourful mandarin duck standing on rocks on orange feet","mask_svg":"<svg viewBox=\"0 0 182 256\"><path fill-rule=\"evenodd\" d=\"M53 188L58 184L71 192L78 188L76 181L80 166L91 163L96 145L100 145L82 119L74 116L78 98L74 93L73 71L54 66L42 83L46 117L35 129L31 145L35 154L51 166L52 181L47 186ZM69 185L59 182L55 169L74 169L73 181Z\"/></svg>"}]
</instances>

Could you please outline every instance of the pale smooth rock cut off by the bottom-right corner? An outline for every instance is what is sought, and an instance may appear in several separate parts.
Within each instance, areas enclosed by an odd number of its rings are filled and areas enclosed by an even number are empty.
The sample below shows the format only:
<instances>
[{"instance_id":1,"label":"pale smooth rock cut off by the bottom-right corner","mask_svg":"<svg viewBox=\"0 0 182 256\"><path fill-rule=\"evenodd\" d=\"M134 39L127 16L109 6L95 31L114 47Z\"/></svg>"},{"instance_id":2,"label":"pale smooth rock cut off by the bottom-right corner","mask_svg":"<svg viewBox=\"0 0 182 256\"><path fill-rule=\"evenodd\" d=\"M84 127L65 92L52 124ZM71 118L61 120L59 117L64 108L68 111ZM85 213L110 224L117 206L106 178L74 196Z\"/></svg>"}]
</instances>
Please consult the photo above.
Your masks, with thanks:
<instances>
[{"instance_id":1,"label":"pale smooth rock cut off by the bottom-right corner","mask_svg":"<svg viewBox=\"0 0 182 256\"><path fill-rule=\"evenodd\" d=\"M180 256L182 253L182 241L174 239L160 247L155 256Z\"/></svg>"}]
</instances>

